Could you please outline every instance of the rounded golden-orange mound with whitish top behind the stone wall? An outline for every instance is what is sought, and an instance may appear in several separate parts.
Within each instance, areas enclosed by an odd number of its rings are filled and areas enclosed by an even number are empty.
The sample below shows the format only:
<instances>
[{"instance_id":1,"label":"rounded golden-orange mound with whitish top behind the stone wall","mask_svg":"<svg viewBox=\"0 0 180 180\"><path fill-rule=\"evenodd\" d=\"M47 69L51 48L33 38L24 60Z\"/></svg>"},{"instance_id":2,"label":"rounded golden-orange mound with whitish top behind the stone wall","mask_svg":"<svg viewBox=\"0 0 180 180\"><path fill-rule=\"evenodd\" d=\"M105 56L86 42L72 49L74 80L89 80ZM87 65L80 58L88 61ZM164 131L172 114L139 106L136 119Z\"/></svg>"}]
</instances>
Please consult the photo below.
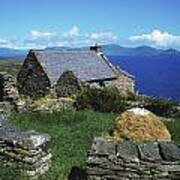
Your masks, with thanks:
<instances>
[{"instance_id":1,"label":"rounded golden-orange mound with whitish top behind the stone wall","mask_svg":"<svg viewBox=\"0 0 180 180\"><path fill-rule=\"evenodd\" d=\"M143 141L171 141L171 135L163 122L152 112L133 108L125 111L116 119L112 130L116 139Z\"/></svg>"}]
</instances>

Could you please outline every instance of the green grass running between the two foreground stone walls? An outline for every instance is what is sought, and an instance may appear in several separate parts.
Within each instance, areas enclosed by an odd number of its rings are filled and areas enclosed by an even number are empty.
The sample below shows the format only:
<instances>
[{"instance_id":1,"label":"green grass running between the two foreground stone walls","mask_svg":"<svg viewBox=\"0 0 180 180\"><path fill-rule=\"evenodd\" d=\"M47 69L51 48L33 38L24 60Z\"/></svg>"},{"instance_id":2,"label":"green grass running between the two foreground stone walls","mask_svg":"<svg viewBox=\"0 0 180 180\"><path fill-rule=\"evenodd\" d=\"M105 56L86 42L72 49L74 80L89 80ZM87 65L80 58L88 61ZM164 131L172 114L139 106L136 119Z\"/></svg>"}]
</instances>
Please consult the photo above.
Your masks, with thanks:
<instances>
[{"instance_id":1,"label":"green grass running between the two foreground stone walls","mask_svg":"<svg viewBox=\"0 0 180 180\"><path fill-rule=\"evenodd\" d=\"M114 114L84 110L51 114L14 114L11 122L22 129L33 129L51 136L50 148L53 155L51 168L39 179L64 180L67 179L73 166L85 167L87 151L94 137L107 132L114 119ZM6 168L3 171L6 172ZM13 171L9 171L8 176L0 173L0 178L24 180L23 176L15 177Z\"/></svg>"}]
</instances>

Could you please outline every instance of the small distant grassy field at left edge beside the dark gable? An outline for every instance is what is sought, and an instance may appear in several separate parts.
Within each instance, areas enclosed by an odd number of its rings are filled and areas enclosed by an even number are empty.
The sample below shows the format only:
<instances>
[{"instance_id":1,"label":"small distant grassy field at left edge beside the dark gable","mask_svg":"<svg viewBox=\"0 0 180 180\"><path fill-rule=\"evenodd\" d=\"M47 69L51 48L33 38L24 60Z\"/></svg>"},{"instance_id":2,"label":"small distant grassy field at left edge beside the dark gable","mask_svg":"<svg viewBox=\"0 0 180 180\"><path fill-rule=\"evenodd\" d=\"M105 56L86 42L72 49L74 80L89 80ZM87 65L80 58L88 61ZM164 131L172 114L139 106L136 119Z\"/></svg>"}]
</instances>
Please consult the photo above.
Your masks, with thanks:
<instances>
[{"instance_id":1,"label":"small distant grassy field at left edge beside the dark gable","mask_svg":"<svg viewBox=\"0 0 180 180\"><path fill-rule=\"evenodd\" d=\"M16 76L23 60L21 59L0 59L0 72L7 72Z\"/></svg>"}]
</instances>

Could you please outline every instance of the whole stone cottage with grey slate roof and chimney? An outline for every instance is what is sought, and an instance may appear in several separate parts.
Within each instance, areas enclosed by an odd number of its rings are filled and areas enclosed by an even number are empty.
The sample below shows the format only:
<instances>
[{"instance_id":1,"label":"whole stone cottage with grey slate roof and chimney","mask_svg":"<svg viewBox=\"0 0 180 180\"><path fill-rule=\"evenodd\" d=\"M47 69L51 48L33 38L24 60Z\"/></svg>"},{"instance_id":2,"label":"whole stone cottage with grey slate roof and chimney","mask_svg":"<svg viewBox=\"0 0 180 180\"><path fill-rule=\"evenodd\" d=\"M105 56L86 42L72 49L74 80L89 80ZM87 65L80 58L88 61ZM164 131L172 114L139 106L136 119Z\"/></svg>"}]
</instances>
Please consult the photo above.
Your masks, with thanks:
<instances>
[{"instance_id":1,"label":"whole stone cottage with grey slate roof and chimney","mask_svg":"<svg viewBox=\"0 0 180 180\"><path fill-rule=\"evenodd\" d=\"M72 73L65 73L68 71ZM134 77L113 66L99 46L87 50L30 50L17 76L17 87L21 95L45 96L53 88L57 96L62 96L58 88L66 74L76 81L70 86L79 81L96 87L116 86L121 93L134 92Z\"/></svg>"}]
</instances>

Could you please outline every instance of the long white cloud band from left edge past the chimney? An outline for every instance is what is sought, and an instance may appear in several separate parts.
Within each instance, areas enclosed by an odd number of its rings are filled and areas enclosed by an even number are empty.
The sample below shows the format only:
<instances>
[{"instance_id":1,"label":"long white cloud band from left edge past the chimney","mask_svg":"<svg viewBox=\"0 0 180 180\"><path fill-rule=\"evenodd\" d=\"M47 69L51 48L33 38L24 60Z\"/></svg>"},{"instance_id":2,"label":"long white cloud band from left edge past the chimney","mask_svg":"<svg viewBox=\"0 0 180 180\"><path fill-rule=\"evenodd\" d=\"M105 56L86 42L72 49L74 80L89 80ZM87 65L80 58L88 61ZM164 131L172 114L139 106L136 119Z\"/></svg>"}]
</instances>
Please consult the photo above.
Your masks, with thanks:
<instances>
[{"instance_id":1,"label":"long white cloud band from left edge past the chimney","mask_svg":"<svg viewBox=\"0 0 180 180\"><path fill-rule=\"evenodd\" d=\"M116 41L117 36L112 32L83 33L78 26L72 26L63 33L32 30L22 39L0 39L0 47L41 49L50 46L89 46L94 43L106 44Z\"/></svg>"}]
</instances>

